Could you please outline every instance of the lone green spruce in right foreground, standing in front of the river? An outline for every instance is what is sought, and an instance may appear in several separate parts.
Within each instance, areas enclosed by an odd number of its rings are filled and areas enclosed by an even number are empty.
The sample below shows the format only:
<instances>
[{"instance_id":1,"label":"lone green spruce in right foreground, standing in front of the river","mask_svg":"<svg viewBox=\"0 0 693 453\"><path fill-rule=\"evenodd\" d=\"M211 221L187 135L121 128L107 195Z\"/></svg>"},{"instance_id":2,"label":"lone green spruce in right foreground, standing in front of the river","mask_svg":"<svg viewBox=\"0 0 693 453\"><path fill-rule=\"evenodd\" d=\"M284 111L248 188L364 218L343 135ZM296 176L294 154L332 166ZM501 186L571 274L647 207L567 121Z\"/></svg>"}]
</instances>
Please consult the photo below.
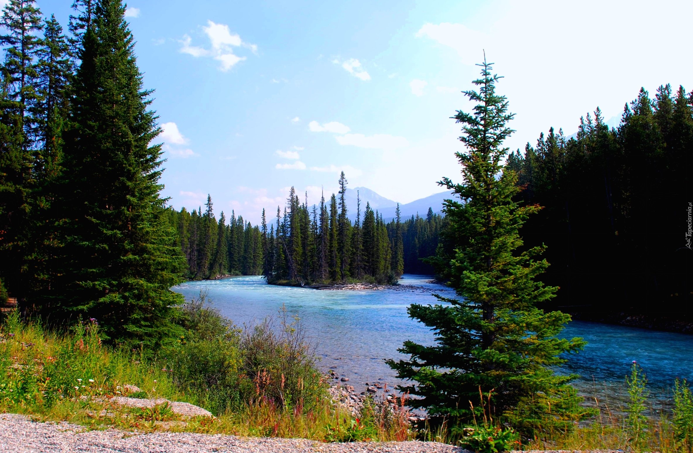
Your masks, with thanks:
<instances>
[{"instance_id":1,"label":"lone green spruce in right foreground, standing in front of the river","mask_svg":"<svg viewBox=\"0 0 693 453\"><path fill-rule=\"evenodd\" d=\"M455 256L450 260L450 285L462 299L444 299L446 305L413 304L410 317L435 331L435 346L406 341L401 352L409 360L394 362L398 377L415 383L405 387L420 398L414 407L426 407L431 416L448 416L457 423L473 423L480 391L491 393L497 423L510 423L524 434L541 429L570 429L584 414L572 376L554 375L550 368L565 362L561 354L582 348L581 339L557 337L568 314L543 312L537 303L550 299L556 287L534 278L548 266L534 260L543 251L523 253L519 229L538 206L519 206L517 176L503 171L507 154L503 141L513 132L507 122L505 96L495 93L498 76L484 61L477 91L464 94L476 102L473 114L458 111L460 141L457 152L464 183L444 178L441 185L458 200L448 200L445 211L457 232Z\"/></svg>"}]
</instances>

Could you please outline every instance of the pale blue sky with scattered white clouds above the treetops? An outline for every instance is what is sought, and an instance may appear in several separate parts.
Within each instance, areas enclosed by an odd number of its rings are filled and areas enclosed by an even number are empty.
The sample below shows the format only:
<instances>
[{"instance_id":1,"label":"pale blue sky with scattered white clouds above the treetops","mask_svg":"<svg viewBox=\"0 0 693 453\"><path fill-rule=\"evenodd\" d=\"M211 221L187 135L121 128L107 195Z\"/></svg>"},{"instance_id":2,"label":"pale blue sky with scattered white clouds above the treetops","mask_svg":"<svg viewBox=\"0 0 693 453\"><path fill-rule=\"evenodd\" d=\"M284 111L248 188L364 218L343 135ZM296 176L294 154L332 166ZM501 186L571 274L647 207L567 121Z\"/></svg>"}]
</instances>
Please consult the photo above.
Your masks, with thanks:
<instances>
[{"instance_id":1,"label":"pale blue sky with scattered white clouds above the treetops","mask_svg":"<svg viewBox=\"0 0 693 453\"><path fill-rule=\"evenodd\" d=\"M0 2L1 3L1 2ZM67 0L38 1L67 28ZM620 117L640 87L693 89L693 2L132 0L155 89L164 195L258 222L290 186L308 202L364 186L401 203L459 180L460 92L484 59L516 114L511 150Z\"/></svg>"}]
</instances>

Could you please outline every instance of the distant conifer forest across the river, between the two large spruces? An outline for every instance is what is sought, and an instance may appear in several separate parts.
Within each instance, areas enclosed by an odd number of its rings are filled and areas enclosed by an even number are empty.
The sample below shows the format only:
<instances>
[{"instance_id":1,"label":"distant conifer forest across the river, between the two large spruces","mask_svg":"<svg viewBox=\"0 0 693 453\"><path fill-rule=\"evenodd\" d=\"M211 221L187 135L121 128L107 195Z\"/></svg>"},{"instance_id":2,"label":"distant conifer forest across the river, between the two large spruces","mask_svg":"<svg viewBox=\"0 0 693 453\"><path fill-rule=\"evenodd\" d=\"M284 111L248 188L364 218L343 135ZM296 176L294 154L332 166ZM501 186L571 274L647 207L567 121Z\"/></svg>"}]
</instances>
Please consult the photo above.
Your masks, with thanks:
<instances>
[{"instance_id":1,"label":"distant conifer forest across the river, between the two large spruces","mask_svg":"<svg viewBox=\"0 0 693 453\"><path fill-rule=\"evenodd\" d=\"M347 186L343 174L340 184ZM423 258L435 254L444 217L429 208L426 217L402 220L397 211L386 223L358 200L352 224L341 194L310 206L291 188L283 211L277 206L277 217L268 222L263 210L259 226L234 211L229 220L223 212L217 220L209 196L204 211L168 208L187 278L262 274L270 283L396 283L403 273L433 274Z\"/></svg>"}]
</instances>

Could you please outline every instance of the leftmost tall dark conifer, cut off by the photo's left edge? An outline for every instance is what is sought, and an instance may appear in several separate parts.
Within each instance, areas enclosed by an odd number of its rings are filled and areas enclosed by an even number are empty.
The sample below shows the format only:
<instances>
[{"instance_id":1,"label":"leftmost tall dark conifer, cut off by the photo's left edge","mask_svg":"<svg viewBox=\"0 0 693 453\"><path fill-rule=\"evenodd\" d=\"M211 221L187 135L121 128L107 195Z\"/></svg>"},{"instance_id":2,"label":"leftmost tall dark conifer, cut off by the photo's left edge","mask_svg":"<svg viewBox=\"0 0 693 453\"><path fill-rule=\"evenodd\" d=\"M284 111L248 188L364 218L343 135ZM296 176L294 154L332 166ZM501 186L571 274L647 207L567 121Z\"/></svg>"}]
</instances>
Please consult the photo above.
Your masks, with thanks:
<instances>
[{"instance_id":1,"label":"leftmost tall dark conifer, cut off by the photo's left edge","mask_svg":"<svg viewBox=\"0 0 693 453\"><path fill-rule=\"evenodd\" d=\"M2 65L2 130L0 131L0 278L13 296L27 294L33 279L28 260L35 259L35 158L37 118L32 107L39 96L37 54L41 12L33 0L10 0L0 19L5 48Z\"/></svg>"}]
</instances>

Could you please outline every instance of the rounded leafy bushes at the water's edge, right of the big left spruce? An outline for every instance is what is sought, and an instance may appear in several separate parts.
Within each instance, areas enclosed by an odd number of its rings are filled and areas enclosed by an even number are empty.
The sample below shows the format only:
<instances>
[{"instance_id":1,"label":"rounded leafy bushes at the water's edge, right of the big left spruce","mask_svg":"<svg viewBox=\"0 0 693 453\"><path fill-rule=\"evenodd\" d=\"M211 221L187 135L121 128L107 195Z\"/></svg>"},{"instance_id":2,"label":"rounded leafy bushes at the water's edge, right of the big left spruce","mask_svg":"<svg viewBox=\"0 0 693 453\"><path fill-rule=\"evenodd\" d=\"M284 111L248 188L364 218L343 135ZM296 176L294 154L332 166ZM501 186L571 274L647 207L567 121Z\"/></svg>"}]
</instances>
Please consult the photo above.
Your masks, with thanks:
<instances>
[{"instance_id":1,"label":"rounded leafy bushes at the water's edge, right of the big left spruce","mask_svg":"<svg viewBox=\"0 0 693 453\"><path fill-rule=\"evenodd\" d=\"M324 398L315 354L299 321L289 321L286 310L278 325L265 319L241 330L200 293L183 306L179 323L187 334L164 351L160 362L213 414L261 403L303 413Z\"/></svg>"}]
</instances>

